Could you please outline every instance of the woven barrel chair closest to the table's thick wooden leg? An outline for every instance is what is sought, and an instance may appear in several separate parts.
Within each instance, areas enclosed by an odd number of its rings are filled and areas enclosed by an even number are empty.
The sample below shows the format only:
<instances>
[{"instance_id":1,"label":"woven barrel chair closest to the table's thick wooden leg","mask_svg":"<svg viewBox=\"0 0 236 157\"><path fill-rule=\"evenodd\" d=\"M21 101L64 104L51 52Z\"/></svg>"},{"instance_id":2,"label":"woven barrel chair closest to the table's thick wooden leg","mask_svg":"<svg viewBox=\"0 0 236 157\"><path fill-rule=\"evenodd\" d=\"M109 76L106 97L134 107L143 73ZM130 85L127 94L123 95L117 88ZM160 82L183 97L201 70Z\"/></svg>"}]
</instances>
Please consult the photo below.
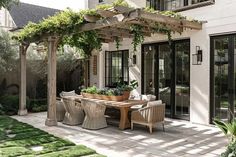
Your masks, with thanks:
<instances>
[{"instance_id":1,"label":"woven barrel chair closest to the table's thick wooden leg","mask_svg":"<svg viewBox=\"0 0 236 157\"><path fill-rule=\"evenodd\" d=\"M106 106L99 104L96 100L82 99L81 104L85 112L82 127L85 129L97 130L107 127L105 118Z\"/></svg>"}]
</instances>

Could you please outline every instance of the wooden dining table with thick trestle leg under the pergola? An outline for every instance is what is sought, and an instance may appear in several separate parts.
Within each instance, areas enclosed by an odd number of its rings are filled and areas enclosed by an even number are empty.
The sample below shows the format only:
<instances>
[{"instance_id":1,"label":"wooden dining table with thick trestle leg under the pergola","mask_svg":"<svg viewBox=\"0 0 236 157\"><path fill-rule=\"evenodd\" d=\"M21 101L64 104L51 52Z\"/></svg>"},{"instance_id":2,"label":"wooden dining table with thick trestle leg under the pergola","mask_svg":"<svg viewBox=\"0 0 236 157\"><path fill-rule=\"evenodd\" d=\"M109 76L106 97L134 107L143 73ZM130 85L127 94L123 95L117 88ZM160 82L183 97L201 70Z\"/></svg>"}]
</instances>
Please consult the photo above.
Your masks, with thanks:
<instances>
[{"instance_id":1,"label":"wooden dining table with thick trestle leg under the pergola","mask_svg":"<svg viewBox=\"0 0 236 157\"><path fill-rule=\"evenodd\" d=\"M121 130L130 128L130 121L128 118L128 112L130 108L134 105L145 105L148 102L146 100L108 101L100 99L83 98L83 96L81 95L75 97L75 100L81 101L81 99L89 99L90 101L92 100L95 101L96 103L103 104L106 107L119 109L120 110L119 129Z\"/></svg>"}]
</instances>

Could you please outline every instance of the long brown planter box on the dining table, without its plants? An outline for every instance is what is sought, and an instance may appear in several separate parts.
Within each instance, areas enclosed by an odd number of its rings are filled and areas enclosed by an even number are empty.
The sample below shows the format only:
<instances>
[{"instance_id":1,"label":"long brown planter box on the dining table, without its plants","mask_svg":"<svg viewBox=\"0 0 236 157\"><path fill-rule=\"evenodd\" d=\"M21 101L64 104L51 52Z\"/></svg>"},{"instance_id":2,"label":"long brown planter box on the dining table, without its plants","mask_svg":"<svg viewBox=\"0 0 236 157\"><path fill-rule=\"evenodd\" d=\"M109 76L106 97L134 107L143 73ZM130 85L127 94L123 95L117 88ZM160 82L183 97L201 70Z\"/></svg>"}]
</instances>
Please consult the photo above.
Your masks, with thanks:
<instances>
[{"instance_id":1,"label":"long brown planter box on the dining table, without its plants","mask_svg":"<svg viewBox=\"0 0 236 157\"><path fill-rule=\"evenodd\" d=\"M100 94L89 94L89 93L81 93L84 98L90 99L100 99L100 100L108 100L108 101L123 101L124 96L108 96L108 95L100 95Z\"/></svg>"}]
</instances>

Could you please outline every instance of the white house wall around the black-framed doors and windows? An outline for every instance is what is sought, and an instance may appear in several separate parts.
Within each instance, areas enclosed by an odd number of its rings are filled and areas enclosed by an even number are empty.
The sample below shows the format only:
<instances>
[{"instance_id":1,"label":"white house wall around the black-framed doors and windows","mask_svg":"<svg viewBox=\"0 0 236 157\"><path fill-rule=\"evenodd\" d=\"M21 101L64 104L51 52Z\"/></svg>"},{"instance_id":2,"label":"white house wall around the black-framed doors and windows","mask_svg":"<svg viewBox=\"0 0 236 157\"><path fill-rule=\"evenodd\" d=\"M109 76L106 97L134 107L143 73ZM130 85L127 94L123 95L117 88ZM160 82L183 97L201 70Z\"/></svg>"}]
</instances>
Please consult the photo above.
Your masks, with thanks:
<instances>
[{"instance_id":1,"label":"white house wall around the black-framed doors and windows","mask_svg":"<svg viewBox=\"0 0 236 157\"><path fill-rule=\"evenodd\" d=\"M132 0L134 1L134 0ZM139 0L145 6L145 0ZM142 1L142 3L141 3ZM136 2L136 1L135 1ZM186 30L182 35L174 34L174 39L190 39L190 121L194 123L209 124L210 120L210 36L236 32L236 1L215 0L214 5L191 9L181 14L194 19L207 21L200 31ZM162 35L146 38L145 43L167 41ZM196 46L203 50L203 62L201 65L192 65L192 54L196 53ZM114 44L109 44L109 50L116 50ZM129 49L132 53L131 40L124 40L120 49ZM139 81L136 92L141 93L141 48L136 52L137 65L130 68L130 80ZM131 55L130 55L131 56ZM100 57L101 59L102 57ZM104 58L104 57L103 57ZM100 64L101 69L104 64ZM104 70L101 70L104 71ZM104 79L101 76L100 79Z\"/></svg>"}]
</instances>

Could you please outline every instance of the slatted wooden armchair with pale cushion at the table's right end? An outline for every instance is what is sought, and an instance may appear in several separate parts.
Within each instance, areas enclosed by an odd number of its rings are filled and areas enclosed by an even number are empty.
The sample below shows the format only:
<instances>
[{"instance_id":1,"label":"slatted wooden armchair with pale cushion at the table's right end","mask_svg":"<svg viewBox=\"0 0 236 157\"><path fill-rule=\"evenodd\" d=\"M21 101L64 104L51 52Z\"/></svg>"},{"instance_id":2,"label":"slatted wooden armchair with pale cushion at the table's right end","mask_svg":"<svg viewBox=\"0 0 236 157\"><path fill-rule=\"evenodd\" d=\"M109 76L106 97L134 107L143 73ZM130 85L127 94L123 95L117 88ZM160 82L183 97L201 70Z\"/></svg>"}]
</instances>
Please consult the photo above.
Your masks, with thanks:
<instances>
[{"instance_id":1,"label":"slatted wooden armchair with pale cushion at the table's right end","mask_svg":"<svg viewBox=\"0 0 236 157\"><path fill-rule=\"evenodd\" d=\"M147 106L131 113L131 129L134 123L146 125L149 127L150 133L157 123L162 123L163 131L165 118L165 104L161 100L148 102Z\"/></svg>"}]
</instances>

